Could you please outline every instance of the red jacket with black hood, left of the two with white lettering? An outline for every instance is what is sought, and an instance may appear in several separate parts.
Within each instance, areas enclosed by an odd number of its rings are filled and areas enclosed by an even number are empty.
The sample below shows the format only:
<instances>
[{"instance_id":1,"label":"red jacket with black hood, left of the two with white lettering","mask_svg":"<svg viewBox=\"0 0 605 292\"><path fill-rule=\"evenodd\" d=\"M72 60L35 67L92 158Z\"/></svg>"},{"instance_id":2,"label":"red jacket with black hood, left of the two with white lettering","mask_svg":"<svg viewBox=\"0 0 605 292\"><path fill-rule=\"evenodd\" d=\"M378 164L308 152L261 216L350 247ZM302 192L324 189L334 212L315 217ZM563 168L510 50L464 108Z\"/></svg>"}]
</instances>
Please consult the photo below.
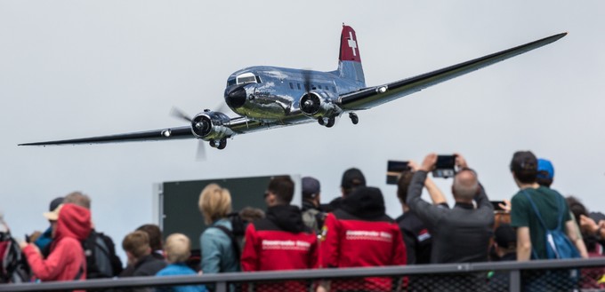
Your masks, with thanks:
<instances>
[{"instance_id":1,"label":"red jacket with black hood, left of the two with white lettering","mask_svg":"<svg viewBox=\"0 0 605 292\"><path fill-rule=\"evenodd\" d=\"M310 269L318 266L315 233L303 224L296 206L267 209L266 217L246 228L242 270L275 271Z\"/></svg>"}]
</instances>

